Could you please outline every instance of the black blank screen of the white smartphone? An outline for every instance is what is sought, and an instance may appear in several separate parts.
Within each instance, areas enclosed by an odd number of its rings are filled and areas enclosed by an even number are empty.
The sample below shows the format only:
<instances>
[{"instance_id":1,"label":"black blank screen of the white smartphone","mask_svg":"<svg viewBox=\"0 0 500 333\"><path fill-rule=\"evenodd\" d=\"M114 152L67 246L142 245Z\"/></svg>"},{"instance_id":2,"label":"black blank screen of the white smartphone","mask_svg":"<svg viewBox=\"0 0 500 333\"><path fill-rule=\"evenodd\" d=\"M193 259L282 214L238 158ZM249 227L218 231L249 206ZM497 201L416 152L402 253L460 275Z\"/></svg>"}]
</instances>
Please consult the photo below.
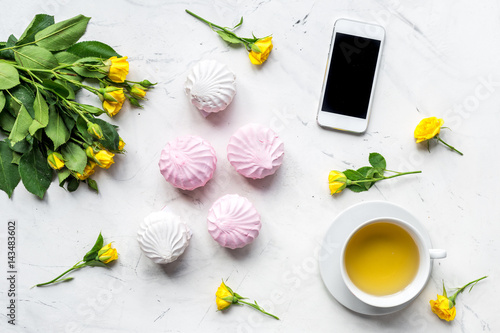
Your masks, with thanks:
<instances>
[{"instance_id":1,"label":"black blank screen of the white smartphone","mask_svg":"<svg viewBox=\"0 0 500 333\"><path fill-rule=\"evenodd\" d=\"M366 118L380 40L337 33L322 110Z\"/></svg>"}]
</instances>

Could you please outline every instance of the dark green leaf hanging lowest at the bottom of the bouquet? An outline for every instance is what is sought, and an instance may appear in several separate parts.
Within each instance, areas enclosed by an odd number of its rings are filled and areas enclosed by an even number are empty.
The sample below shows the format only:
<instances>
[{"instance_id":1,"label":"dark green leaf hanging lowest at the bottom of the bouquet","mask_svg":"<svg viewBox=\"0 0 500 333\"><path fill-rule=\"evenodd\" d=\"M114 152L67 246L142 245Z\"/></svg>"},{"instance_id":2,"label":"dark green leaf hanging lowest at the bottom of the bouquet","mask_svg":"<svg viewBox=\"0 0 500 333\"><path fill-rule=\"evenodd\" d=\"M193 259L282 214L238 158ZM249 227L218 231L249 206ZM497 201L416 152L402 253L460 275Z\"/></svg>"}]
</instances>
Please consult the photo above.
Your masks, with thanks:
<instances>
[{"instance_id":1,"label":"dark green leaf hanging lowest at the bottom of the bouquet","mask_svg":"<svg viewBox=\"0 0 500 333\"><path fill-rule=\"evenodd\" d=\"M32 149L21 157L19 174L24 187L43 199L52 181L52 169L40 149Z\"/></svg>"}]
</instances>

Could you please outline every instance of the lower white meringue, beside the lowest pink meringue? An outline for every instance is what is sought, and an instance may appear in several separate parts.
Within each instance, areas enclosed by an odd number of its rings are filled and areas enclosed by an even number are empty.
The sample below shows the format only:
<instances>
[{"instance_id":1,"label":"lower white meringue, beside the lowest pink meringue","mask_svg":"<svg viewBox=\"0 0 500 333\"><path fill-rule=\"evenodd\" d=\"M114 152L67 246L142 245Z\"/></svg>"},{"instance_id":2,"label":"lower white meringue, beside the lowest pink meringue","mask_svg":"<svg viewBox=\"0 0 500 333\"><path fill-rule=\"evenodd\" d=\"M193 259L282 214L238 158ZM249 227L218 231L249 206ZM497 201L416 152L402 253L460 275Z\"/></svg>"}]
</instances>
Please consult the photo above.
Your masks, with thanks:
<instances>
[{"instance_id":1,"label":"lower white meringue, beside the lowest pink meringue","mask_svg":"<svg viewBox=\"0 0 500 333\"><path fill-rule=\"evenodd\" d=\"M144 219L137 232L137 241L146 257L157 264L168 264L184 253L191 235L180 217L160 211Z\"/></svg>"}]
</instances>

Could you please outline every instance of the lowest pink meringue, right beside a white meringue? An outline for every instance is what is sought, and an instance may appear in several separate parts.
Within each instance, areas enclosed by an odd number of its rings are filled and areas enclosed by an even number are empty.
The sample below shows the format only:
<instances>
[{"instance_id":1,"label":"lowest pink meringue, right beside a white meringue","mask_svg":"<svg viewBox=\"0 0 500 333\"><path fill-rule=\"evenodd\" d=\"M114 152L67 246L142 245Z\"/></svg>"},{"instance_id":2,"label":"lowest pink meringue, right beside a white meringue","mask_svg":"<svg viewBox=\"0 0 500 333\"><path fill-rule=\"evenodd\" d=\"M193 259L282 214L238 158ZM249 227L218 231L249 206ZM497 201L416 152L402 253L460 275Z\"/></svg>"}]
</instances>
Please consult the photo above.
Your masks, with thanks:
<instances>
[{"instance_id":1,"label":"lowest pink meringue, right beside a white meringue","mask_svg":"<svg viewBox=\"0 0 500 333\"><path fill-rule=\"evenodd\" d=\"M253 242L261 227L260 215L252 203L237 194L219 198L210 208L207 222L213 239L230 249Z\"/></svg>"}]
</instances>

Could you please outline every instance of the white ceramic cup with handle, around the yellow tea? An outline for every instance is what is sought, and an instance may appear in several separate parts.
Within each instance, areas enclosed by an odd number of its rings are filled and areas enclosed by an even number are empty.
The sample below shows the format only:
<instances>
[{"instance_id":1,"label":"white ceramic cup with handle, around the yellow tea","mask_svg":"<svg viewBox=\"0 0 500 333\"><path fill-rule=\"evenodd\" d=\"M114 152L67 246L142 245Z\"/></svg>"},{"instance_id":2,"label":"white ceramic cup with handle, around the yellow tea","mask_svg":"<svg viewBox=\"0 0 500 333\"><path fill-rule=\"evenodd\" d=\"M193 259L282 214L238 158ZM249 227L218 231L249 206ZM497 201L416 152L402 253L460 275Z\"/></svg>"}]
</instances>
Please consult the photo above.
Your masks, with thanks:
<instances>
[{"instance_id":1,"label":"white ceramic cup with handle, around the yellow tea","mask_svg":"<svg viewBox=\"0 0 500 333\"><path fill-rule=\"evenodd\" d=\"M349 278L349 275L347 274L345 267L345 249L347 244L351 240L352 236L363 227L366 227L369 224L377 222L393 223L406 230L415 241L420 256L418 271L413 281L410 282L410 284L406 286L403 290L385 296L368 294L359 289L358 287L356 287L356 285ZM346 284L347 288L351 291L351 293L353 293L354 296L356 296L356 298L358 298L363 303L380 308L389 308L405 304L414 299L415 297L417 297L422 291L422 289L425 287L425 284L427 283L429 276L431 274L431 269L432 269L431 259L446 258L446 251L439 249L430 249L425 244L424 238L422 237L421 233L418 230L416 230L411 224L393 217L381 217L381 218L379 217L361 224L359 227L356 228L356 230L354 230L349 235L344 245L342 246L340 258L341 258L340 272L342 274L342 279L344 280L344 283Z\"/></svg>"}]
</instances>

